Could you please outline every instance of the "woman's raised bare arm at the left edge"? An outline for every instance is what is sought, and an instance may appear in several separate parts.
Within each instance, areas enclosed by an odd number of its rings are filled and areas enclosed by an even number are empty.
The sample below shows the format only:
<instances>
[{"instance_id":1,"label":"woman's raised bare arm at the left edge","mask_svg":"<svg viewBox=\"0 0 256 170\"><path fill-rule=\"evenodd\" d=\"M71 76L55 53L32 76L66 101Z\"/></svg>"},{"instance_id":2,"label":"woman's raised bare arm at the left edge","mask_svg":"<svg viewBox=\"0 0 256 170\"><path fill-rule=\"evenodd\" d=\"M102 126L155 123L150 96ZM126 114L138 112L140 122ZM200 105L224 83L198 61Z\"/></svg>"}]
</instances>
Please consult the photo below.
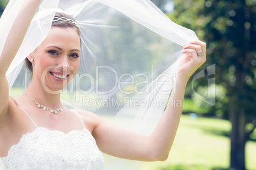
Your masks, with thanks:
<instances>
[{"instance_id":1,"label":"woman's raised bare arm at the left edge","mask_svg":"<svg viewBox=\"0 0 256 170\"><path fill-rule=\"evenodd\" d=\"M0 57L0 117L8 110L9 88L6 72L22 44L25 33L41 0L25 0L11 27Z\"/></svg>"}]
</instances>

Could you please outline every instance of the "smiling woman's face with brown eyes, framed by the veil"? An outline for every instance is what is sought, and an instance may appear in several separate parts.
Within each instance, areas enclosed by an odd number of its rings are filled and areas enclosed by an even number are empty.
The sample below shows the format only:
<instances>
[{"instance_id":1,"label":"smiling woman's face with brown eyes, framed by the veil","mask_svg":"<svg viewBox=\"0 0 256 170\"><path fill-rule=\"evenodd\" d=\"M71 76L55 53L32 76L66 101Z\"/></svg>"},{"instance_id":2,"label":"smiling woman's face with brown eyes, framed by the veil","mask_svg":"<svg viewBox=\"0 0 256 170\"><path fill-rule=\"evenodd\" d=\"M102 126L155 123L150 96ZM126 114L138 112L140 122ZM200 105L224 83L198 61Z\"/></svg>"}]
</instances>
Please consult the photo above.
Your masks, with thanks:
<instances>
[{"instance_id":1,"label":"smiling woman's face with brown eyes, framed by the veil","mask_svg":"<svg viewBox=\"0 0 256 170\"><path fill-rule=\"evenodd\" d=\"M33 77L49 91L64 89L79 67L80 36L76 28L52 27L31 53Z\"/></svg>"}]
</instances>

